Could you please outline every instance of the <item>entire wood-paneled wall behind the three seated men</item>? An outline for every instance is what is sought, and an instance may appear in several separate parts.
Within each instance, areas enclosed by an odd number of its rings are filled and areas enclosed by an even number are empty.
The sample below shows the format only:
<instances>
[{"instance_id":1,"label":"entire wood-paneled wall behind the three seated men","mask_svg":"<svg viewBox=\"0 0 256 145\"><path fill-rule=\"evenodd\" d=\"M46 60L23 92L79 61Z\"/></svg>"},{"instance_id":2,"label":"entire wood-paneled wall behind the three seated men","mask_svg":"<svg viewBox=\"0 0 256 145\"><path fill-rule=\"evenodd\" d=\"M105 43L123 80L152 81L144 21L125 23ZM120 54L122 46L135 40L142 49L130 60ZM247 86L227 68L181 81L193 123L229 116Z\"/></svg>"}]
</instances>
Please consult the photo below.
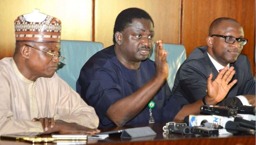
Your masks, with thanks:
<instances>
[{"instance_id":1,"label":"entire wood-paneled wall behind the three seated men","mask_svg":"<svg viewBox=\"0 0 256 145\"><path fill-rule=\"evenodd\" d=\"M255 74L255 0L0 0L0 59L13 55L14 19L34 8L62 21L61 39L95 40L108 47L113 44L117 15L129 7L138 7L150 14L155 24L155 41L182 44L187 55L195 47L206 45L214 19L236 19L249 40L242 54L249 58Z\"/></svg>"}]
</instances>

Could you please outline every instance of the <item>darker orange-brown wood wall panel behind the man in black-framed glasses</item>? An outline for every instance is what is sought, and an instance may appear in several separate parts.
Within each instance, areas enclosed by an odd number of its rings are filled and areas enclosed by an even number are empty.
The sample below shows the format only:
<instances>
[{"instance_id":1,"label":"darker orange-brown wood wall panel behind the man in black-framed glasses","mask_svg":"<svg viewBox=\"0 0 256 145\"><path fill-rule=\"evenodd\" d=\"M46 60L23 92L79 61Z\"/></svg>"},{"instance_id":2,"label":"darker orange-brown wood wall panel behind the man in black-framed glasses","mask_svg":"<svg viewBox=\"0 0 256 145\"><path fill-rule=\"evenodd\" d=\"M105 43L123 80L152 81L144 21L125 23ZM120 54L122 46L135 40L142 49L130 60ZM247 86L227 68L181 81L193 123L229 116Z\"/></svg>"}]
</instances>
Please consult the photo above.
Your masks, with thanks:
<instances>
[{"instance_id":1,"label":"darker orange-brown wood wall panel behind the man in black-framed glasses","mask_svg":"<svg viewBox=\"0 0 256 145\"><path fill-rule=\"evenodd\" d=\"M255 0L183 0L181 44L189 55L197 46L207 45L209 26L219 17L237 20L244 29L248 43L242 54L251 62L255 75Z\"/></svg>"}]
</instances>

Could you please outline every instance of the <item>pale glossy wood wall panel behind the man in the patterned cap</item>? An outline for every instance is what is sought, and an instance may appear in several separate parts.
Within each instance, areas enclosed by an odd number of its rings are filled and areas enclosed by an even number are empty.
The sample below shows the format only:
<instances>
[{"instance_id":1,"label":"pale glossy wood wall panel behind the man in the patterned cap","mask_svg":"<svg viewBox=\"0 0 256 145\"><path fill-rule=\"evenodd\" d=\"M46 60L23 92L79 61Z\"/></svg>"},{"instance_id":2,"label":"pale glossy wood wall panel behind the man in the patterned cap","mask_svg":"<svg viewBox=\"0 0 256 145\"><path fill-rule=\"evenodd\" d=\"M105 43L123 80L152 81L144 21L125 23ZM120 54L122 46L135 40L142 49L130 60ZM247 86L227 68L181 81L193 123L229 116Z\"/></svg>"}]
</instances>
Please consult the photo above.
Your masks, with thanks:
<instances>
[{"instance_id":1,"label":"pale glossy wood wall panel behind the man in the patterned cap","mask_svg":"<svg viewBox=\"0 0 256 145\"><path fill-rule=\"evenodd\" d=\"M15 47L14 20L39 9L61 21L62 40L92 41L92 0L0 0L0 59Z\"/></svg>"}]
</instances>

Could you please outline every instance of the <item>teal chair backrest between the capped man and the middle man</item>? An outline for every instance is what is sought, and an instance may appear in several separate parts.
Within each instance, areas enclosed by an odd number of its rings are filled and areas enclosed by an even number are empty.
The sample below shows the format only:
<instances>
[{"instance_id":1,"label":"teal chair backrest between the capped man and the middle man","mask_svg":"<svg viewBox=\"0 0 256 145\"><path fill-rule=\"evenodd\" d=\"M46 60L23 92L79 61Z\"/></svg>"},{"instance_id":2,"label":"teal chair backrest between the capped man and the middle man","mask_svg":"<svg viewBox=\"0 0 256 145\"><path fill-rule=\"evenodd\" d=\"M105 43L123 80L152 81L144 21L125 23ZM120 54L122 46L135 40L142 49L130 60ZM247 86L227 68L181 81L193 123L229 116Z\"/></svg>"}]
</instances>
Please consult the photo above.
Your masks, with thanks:
<instances>
[{"instance_id":1,"label":"teal chair backrest between the capped man and the middle man","mask_svg":"<svg viewBox=\"0 0 256 145\"><path fill-rule=\"evenodd\" d=\"M90 41L61 40L60 48L60 54L67 59L59 65L57 73L76 90L76 81L81 68L91 56L103 49L103 44Z\"/></svg>"}]
</instances>

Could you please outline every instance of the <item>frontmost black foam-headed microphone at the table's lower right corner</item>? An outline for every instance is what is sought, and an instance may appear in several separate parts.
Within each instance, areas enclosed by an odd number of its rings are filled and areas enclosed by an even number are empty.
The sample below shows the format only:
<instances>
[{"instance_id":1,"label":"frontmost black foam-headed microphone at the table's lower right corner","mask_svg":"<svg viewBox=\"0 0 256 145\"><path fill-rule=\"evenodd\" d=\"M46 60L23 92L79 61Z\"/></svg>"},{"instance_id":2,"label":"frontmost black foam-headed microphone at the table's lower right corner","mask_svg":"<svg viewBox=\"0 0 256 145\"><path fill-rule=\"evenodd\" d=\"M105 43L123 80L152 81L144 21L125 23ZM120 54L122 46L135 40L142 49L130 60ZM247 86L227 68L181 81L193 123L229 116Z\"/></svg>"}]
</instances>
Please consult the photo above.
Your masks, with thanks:
<instances>
[{"instance_id":1,"label":"frontmost black foam-headed microphone at the table's lower right corner","mask_svg":"<svg viewBox=\"0 0 256 145\"><path fill-rule=\"evenodd\" d=\"M241 127L238 122L228 121L225 128L230 133L246 132L247 134L255 135L255 130Z\"/></svg>"}]
</instances>

